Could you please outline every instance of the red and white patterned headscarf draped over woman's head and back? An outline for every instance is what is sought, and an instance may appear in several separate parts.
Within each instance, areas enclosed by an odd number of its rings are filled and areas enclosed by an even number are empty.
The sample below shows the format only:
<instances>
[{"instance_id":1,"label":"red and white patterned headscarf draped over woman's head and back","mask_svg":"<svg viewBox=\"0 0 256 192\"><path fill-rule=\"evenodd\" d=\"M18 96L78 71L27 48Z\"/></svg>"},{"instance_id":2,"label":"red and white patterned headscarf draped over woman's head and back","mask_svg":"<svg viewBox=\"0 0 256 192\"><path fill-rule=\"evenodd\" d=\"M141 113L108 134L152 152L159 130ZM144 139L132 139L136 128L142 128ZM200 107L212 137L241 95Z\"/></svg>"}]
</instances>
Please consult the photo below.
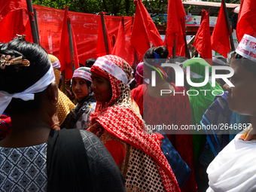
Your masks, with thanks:
<instances>
[{"instance_id":1,"label":"red and white patterned headscarf draped over woman's head and back","mask_svg":"<svg viewBox=\"0 0 256 192\"><path fill-rule=\"evenodd\" d=\"M101 58L114 62L122 69L128 82L133 78L132 69L125 60L112 55ZM97 74L104 73L104 76L108 77L112 89L112 97L109 102L97 102L96 111L90 114L91 124L99 122L112 135L151 156L157 163L166 191L179 191L175 175L160 149L161 135L150 135L146 132L142 116L133 107L130 88L100 66L93 65L90 71Z\"/></svg>"}]
</instances>

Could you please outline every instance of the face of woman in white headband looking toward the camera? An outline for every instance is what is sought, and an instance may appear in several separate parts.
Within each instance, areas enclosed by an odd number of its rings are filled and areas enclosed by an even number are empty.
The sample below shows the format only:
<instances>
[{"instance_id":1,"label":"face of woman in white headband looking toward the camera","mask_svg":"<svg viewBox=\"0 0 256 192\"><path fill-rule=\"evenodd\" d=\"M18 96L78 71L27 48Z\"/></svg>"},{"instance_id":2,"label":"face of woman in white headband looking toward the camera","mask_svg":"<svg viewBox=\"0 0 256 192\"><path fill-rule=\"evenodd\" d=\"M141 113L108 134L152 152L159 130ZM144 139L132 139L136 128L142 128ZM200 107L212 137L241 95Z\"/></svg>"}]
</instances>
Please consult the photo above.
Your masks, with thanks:
<instances>
[{"instance_id":1,"label":"face of woman in white headband looking toward the camera","mask_svg":"<svg viewBox=\"0 0 256 192\"><path fill-rule=\"evenodd\" d=\"M89 93L87 82L84 78L72 78L72 91L78 100L83 99Z\"/></svg>"}]
</instances>

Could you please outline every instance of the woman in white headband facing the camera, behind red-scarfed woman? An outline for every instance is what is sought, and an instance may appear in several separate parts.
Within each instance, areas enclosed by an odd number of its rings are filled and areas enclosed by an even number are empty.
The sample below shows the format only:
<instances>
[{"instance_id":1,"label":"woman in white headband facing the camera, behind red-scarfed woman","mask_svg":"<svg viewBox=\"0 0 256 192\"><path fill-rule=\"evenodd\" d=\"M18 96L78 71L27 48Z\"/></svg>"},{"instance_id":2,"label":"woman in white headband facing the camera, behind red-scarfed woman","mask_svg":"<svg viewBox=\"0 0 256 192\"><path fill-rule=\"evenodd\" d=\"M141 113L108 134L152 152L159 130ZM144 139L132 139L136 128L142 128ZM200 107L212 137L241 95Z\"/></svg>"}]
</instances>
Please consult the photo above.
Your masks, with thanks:
<instances>
[{"instance_id":1,"label":"woman in white headband facing the camera, behind red-scarfed woman","mask_svg":"<svg viewBox=\"0 0 256 192\"><path fill-rule=\"evenodd\" d=\"M90 113L95 110L96 100L90 87L90 68L81 67L75 70L72 77L72 91L78 104L70 111L61 127L69 129L87 130L90 125Z\"/></svg>"}]
</instances>

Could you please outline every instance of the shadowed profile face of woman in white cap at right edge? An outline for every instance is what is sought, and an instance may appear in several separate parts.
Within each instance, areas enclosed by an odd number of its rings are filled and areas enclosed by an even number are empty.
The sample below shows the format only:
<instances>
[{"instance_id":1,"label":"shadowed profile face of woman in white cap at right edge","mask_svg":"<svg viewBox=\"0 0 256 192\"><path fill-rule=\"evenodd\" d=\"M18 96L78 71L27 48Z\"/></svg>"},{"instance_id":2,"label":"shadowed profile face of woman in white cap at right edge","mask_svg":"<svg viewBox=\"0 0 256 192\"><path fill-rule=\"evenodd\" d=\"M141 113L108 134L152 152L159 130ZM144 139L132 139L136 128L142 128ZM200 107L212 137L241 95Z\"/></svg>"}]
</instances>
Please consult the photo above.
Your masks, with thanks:
<instances>
[{"instance_id":1,"label":"shadowed profile face of woman in white cap at right edge","mask_svg":"<svg viewBox=\"0 0 256 192\"><path fill-rule=\"evenodd\" d=\"M230 78L235 87L228 87L224 84L224 90L227 90L227 101L230 110L239 114L254 116L256 115L256 76L254 72L245 69L237 59L231 59L230 67L234 70L234 75Z\"/></svg>"}]
</instances>

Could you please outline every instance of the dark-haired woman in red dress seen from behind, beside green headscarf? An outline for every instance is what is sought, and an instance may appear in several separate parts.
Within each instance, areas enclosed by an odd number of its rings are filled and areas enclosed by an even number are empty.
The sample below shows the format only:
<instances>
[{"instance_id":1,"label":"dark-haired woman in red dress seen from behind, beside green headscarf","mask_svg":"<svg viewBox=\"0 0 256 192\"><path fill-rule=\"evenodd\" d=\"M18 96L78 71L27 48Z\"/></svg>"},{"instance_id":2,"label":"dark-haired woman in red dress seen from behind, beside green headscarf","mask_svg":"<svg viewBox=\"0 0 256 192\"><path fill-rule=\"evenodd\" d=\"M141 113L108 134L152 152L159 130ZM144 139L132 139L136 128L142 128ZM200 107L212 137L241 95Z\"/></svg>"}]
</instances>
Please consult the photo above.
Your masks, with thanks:
<instances>
[{"instance_id":1,"label":"dark-haired woman in red dress seen from behind, beside green headscarf","mask_svg":"<svg viewBox=\"0 0 256 192\"><path fill-rule=\"evenodd\" d=\"M151 128L156 130L157 125L176 126L178 129L183 125L191 124L190 103L184 87L176 87L175 84L168 83L161 63L165 63L169 51L166 47L152 47L144 56L144 71L147 77L152 80L151 74L155 72L156 86L142 84L132 90L132 97L139 105L143 120ZM158 72L160 73L158 73ZM165 90L161 94L161 90ZM176 94L175 94L175 93ZM192 135L187 130L178 131L174 129L164 129L169 141L181 158L192 170L189 178L181 191L197 191L194 178L194 152Z\"/></svg>"}]
</instances>

